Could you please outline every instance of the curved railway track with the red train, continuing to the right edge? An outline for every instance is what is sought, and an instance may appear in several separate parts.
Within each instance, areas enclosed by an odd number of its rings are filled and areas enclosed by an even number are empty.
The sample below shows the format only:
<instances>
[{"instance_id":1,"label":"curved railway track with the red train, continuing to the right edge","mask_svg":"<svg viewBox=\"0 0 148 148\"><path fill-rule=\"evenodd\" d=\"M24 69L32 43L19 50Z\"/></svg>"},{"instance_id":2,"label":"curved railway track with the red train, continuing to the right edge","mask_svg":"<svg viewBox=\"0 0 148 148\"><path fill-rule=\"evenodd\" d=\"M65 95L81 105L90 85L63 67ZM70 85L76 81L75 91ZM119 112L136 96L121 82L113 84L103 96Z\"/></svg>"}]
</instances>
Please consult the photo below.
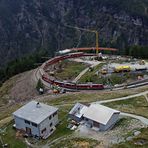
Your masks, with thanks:
<instances>
[{"instance_id":1,"label":"curved railway track with the red train, continuing to the right edge","mask_svg":"<svg viewBox=\"0 0 148 148\"><path fill-rule=\"evenodd\" d=\"M77 50L77 51L90 50L90 48L76 48L76 49L71 49L71 50ZM110 48L110 50L115 51L116 49ZM66 90L103 90L103 89L120 90L120 89L127 89L127 88L134 88L134 87L148 85L148 79L145 79L145 80L135 81L135 82L132 82L132 83L129 83L126 85L120 85L120 86L110 88L110 87L104 86L103 84L94 84L94 83L92 83L92 84L77 84L77 83L72 83L72 82L62 82L62 81L56 80L53 77L50 77L47 74L47 68L49 66L52 66L62 60L65 60L65 59L78 58L78 57L84 57L84 56L96 56L96 54L89 54L89 53L82 53L82 52L69 53L69 54L62 55L62 56L56 56L56 57L46 61L45 63L43 63L41 65L41 67L39 68L39 73L40 73L40 76L41 76L44 84L45 85L48 85L48 84L49 85L57 85L57 86L64 88ZM49 88L49 85L47 86L48 88Z\"/></svg>"}]
</instances>

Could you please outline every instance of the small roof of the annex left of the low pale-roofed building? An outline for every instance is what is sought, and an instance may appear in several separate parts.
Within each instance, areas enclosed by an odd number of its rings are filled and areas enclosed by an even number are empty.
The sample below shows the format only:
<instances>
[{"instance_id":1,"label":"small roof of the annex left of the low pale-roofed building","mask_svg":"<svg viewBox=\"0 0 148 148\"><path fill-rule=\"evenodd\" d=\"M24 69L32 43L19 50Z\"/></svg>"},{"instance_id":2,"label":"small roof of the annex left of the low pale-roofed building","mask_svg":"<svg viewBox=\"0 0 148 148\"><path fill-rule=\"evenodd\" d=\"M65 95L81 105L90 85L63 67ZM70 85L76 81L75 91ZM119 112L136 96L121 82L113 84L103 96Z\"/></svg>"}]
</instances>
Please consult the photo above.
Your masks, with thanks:
<instances>
[{"instance_id":1,"label":"small roof of the annex left of the low pale-roofed building","mask_svg":"<svg viewBox=\"0 0 148 148\"><path fill-rule=\"evenodd\" d=\"M86 112L88 106L81 104L81 103L76 103L75 106L71 109L71 111L69 112L69 114L71 115L75 115L78 118L81 118L84 114L84 112Z\"/></svg>"}]
</instances>

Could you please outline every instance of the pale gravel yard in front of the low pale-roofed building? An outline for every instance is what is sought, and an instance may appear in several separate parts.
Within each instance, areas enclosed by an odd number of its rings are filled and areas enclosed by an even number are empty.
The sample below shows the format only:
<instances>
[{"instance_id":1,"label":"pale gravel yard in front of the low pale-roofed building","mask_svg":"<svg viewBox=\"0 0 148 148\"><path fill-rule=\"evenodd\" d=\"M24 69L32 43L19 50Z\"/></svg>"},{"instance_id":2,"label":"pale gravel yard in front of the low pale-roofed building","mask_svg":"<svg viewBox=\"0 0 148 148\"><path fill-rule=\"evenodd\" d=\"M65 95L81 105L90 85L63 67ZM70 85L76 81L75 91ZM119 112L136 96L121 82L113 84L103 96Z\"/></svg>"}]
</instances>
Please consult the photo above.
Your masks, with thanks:
<instances>
[{"instance_id":1,"label":"pale gravel yard in front of the low pale-roofed building","mask_svg":"<svg viewBox=\"0 0 148 148\"><path fill-rule=\"evenodd\" d=\"M140 121L131 118L122 118L112 130L99 132L80 125L75 131L75 136L93 138L101 142L103 147L109 147L110 144L124 142L129 136L133 136L135 129L146 127Z\"/></svg>"}]
</instances>

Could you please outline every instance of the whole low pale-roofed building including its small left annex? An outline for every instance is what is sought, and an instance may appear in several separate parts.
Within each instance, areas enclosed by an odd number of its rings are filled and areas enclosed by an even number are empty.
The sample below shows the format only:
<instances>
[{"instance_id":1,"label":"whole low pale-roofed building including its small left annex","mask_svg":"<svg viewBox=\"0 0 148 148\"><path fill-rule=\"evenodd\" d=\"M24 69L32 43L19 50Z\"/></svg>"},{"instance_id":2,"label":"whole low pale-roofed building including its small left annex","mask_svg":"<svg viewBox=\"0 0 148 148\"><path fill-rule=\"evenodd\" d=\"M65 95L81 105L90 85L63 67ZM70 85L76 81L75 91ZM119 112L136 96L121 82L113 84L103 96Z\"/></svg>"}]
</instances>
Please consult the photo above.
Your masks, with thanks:
<instances>
[{"instance_id":1,"label":"whole low pale-roofed building including its small left annex","mask_svg":"<svg viewBox=\"0 0 148 148\"><path fill-rule=\"evenodd\" d=\"M85 106L77 103L70 111L69 117L77 122L85 121L85 125L90 128L106 131L115 125L119 114L119 111L100 104Z\"/></svg>"}]
</instances>

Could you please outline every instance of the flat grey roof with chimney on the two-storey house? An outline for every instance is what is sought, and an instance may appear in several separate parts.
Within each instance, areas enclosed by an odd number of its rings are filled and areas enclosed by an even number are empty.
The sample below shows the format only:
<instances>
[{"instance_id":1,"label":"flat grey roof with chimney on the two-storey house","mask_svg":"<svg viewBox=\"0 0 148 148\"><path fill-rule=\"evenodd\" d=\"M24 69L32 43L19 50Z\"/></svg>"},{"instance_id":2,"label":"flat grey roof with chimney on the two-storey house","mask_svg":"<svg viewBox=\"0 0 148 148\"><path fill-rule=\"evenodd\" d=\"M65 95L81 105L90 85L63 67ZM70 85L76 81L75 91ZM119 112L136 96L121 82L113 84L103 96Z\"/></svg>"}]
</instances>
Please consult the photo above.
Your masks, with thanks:
<instances>
[{"instance_id":1,"label":"flat grey roof with chimney on the two-storey house","mask_svg":"<svg viewBox=\"0 0 148 148\"><path fill-rule=\"evenodd\" d=\"M53 106L38 103L36 101L31 101L17 111L15 111L13 115L28 120L30 122L39 124L47 117L55 113L57 110L58 108L55 108Z\"/></svg>"}]
</instances>

